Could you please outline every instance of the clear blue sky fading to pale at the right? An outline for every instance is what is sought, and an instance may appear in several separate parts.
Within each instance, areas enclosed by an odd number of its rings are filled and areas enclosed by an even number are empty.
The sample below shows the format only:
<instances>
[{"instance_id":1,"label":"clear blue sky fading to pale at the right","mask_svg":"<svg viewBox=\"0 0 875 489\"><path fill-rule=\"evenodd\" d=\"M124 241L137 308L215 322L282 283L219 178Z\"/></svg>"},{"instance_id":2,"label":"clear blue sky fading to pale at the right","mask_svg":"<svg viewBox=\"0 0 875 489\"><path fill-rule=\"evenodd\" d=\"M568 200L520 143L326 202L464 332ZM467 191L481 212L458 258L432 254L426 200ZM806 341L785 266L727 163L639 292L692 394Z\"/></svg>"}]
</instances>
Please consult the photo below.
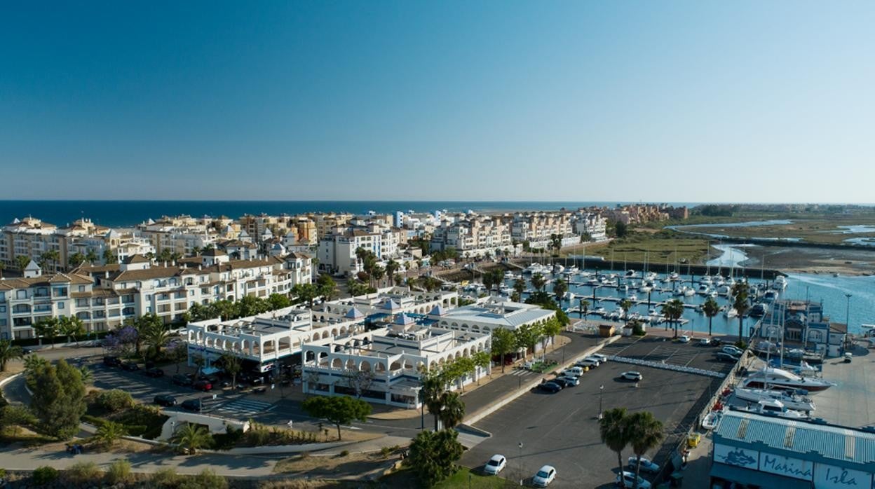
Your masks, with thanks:
<instances>
[{"instance_id":1,"label":"clear blue sky fading to pale at the right","mask_svg":"<svg viewBox=\"0 0 875 489\"><path fill-rule=\"evenodd\" d=\"M5 2L0 199L875 201L875 2Z\"/></svg>"}]
</instances>

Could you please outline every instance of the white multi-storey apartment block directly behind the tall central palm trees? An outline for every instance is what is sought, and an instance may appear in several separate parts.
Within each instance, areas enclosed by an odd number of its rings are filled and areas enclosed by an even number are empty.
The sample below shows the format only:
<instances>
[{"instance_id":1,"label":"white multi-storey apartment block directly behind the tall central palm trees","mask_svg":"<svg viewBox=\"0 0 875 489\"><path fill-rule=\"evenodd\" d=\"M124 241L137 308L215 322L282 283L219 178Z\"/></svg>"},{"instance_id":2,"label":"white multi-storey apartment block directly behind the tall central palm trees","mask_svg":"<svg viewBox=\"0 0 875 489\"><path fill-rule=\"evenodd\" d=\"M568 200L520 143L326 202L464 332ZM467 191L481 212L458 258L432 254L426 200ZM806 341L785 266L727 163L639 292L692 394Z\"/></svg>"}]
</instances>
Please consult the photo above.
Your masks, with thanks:
<instances>
[{"instance_id":1,"label":"white multi-storey apartment block directly behind the tall central palm trees","mask_svg":"<svg viewBox=\"0 0 875 489\"><path fill-rule=\"evenodd\" d=\"M368 224L364 227L336 228L319 241L319 270L334 275L354 275L362 270L355 250L365 248L378 260L401 258L398 245L402 231L397 227Z\"/></svg>"}]
</instances>

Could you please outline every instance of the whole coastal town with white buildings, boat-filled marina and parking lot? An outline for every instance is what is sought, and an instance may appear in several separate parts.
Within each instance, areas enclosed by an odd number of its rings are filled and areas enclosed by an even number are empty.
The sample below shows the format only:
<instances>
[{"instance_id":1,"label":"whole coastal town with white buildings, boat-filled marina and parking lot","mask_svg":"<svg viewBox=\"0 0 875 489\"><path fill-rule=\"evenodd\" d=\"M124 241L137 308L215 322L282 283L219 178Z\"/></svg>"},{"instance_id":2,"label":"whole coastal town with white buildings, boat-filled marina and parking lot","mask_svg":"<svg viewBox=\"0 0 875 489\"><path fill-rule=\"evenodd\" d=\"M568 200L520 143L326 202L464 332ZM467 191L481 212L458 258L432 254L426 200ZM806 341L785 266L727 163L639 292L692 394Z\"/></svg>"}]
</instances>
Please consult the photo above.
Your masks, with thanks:
<instances>
[{"instance_id":1,"label":"whole coastal town with white buildings, boat-filled marina and parking lot","mask_svg":"<svg viewBox=\"0 0 875 489\"><path fill-rule=\"evenodd\" d=\"M664 243L642 244L648 227L702 212L13 218L0 239L0 461L38 469L15 447L44 439L39 450L73 453L68 470L122 450L143 474L167 463L250 485L432 485L458 475L439 464L412 475L404 461L423 433L452 433L450 463L489 487L871 481L868 452L809 440L875 444L863 370L875 328L851 327L851 294L844 322L830 318L835 304L809 288L795 296L780 270L677 252L683 233L662 260ZM624 242L645 259L627 259ZM708 243L707 255L732 251ZM55 431L28 387L50 375L43 359L65 360L84 384L83 411ZM614 423L661 428L627 442L642 448L617 467L606 419L636 405L649 417ZM527 433L517 419L564 433ZM740 433L747 425L758 428ZM548 455L581 443L606 450L583 465L578 450ZM248 457L262 466L238 472Z\"/></svg>"}]
</instances>

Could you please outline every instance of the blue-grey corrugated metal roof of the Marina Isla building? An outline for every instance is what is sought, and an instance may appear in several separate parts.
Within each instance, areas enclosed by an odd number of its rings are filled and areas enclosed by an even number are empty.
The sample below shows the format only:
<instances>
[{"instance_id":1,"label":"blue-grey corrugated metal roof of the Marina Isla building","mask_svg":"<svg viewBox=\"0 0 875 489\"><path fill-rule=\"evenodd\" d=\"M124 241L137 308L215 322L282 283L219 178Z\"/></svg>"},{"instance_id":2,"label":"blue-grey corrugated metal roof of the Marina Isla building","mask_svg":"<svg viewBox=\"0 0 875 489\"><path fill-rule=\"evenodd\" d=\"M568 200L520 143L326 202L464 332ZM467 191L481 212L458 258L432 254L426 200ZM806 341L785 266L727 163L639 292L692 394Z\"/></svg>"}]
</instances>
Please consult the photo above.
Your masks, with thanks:
<instances>
[{"instance_id":1,"label":"blue-grey corrugated metal roof of the Marina Isla building","mask_svg":"<svg viewBox=\"0 0 875 489\"><path fill-rule=\"evenodd\" d=\"M740 430L744 425L746 429ZM729 411L721 416L714 433L725 439L760 442L779 450L814 451L825 458L875 464L875 433L841 426Z\"/></svg>"}]
</instances>

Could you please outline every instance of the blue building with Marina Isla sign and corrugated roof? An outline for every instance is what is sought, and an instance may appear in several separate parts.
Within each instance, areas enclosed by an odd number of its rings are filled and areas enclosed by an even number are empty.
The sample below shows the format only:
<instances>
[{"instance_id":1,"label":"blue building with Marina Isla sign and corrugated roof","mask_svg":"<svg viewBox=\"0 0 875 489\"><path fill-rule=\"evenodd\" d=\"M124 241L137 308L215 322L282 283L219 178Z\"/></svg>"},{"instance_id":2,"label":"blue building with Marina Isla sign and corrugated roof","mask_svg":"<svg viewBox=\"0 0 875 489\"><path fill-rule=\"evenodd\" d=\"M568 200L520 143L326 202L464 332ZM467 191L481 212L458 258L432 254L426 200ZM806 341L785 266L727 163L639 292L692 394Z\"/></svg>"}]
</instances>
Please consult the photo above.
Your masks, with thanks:
<instances>
[{"instance_id":1,"label":"blue building with Marina Isla sign and corrugated roof","mask_svg":"<svg viewBox=\"0 0 875 489\"><path fill-rule=\"evenodd\" d=\"M729 411L713 432L711 487L872 489L875 431Z\"/></svg>"}]
</instances>

